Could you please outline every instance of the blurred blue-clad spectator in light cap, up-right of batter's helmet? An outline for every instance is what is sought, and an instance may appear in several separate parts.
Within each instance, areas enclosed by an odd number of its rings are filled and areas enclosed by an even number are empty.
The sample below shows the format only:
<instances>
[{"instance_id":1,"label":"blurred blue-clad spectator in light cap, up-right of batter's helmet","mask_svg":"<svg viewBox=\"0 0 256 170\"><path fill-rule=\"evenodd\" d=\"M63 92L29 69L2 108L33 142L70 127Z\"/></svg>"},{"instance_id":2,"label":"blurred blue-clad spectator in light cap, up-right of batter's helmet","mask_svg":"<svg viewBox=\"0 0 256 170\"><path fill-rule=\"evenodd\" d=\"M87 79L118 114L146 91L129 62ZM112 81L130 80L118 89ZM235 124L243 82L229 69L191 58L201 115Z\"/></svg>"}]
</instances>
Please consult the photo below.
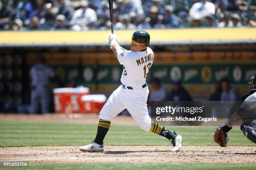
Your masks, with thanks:
<instances>
[{"instance_id":1,"label":"blurred blue-clad spectator in light cap, up-right of batter's helmet","mask_svg":"<svg viewBox=\"0 0 256 170\"><path fill-rule=\"evenodd\" d=\"M161 28L173 28L178 27L179 23L176 20L176 15L173 13L173 7L171 5L165 6L165 14L161 22Z\"/></svg>"}]
</instances>

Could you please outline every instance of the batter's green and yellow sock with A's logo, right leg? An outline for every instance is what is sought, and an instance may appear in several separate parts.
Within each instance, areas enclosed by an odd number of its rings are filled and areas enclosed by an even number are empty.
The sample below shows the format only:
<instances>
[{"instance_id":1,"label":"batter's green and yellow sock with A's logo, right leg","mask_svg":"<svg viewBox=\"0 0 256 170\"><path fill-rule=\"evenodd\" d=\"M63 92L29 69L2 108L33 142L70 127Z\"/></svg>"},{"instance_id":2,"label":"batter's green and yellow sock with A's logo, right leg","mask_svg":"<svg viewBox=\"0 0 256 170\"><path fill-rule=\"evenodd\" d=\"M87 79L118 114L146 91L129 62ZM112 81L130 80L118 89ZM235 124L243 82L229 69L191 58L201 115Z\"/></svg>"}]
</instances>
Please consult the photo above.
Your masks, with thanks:
<instances>
[{"instance_id":1,"label":"batter's green and yellow sock with A's logo, right leg","mask_svg":"<svg viewBox=\"0 0 256 170\"><path fill-rule=\"evenodd\" d=\"M151 124L151 128L149 131L156 133L157 135L161 135L167 138L168 140L174 139L177 136L176 133L172 133L171 131L169 131L167 128L165 128L163 125L161 125L158 122L153 122Z\"/></svg>"}]
</instances>

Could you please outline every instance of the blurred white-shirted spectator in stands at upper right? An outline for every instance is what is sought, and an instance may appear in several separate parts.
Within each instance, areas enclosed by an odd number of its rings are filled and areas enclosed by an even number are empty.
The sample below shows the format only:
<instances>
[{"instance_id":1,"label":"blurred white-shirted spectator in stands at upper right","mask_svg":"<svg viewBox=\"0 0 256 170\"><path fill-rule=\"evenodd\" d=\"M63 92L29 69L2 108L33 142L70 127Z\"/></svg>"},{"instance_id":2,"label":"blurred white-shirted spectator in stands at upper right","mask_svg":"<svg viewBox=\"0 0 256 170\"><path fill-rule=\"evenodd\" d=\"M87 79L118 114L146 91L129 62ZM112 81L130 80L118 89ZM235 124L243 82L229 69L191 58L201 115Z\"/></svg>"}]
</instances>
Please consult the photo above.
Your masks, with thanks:
<instances>
[{"instance_id":1,"label":"blurred white-shirted spectator in stands at upper right","mask_svg":"<svg viewBox=\"0 0 256 170\"><path fill-rule=\"evenodd\" d=\"M215 5L212 2L208 2L207 0L201 0L201 2L196 2L192 5L189 10L189 16L192 19L201 19L205 18L208 15L215 14Z\"/></svg>"}]
</instances>

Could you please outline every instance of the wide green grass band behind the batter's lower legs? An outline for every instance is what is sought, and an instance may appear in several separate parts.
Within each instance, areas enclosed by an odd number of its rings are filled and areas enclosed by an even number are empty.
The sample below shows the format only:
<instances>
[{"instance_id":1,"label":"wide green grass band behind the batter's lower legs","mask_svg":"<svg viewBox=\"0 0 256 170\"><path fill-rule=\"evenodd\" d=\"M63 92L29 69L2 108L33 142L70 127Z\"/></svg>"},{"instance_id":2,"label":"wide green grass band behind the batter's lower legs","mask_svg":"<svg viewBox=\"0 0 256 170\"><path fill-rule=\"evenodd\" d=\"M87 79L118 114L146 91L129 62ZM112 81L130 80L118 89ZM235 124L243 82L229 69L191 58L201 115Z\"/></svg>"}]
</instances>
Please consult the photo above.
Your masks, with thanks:
<instances>
[{"instance_id":1,"label":"wide green grass band behind the batter's lower legs","mask_svg":"<svg viewBox=\"0 0 256 170\"><path fill-rule=\"evenodd\" d=\"M183 136L183 145L217 145L214 128L172 126ZM96 124L0 121L0 147L84 145L94 140ZM229 133L229 146L255 146L240 128ZM105 145L170 145L165 138L141 130L138 125L111 125Z\"/></svg>"}]
</instances>

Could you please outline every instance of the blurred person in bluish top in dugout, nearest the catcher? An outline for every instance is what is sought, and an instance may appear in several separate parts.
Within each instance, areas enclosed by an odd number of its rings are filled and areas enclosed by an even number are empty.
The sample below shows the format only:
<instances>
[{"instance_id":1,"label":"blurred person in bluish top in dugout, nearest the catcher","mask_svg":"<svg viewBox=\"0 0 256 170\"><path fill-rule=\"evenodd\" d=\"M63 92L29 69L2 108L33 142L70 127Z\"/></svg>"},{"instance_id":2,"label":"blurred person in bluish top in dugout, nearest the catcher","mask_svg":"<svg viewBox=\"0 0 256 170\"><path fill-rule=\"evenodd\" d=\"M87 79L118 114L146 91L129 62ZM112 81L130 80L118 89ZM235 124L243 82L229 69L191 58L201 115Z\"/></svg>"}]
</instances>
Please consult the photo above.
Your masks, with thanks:
<instances>
[{"instance_id":1,"label":"blurred person in bluish top in dugout, nearest the catcher","mask_svg":"<svg viewBox=\"0 0 256 170\"><path fill-rule=\"evenodd\" d=\"M231 88L228 79L222 81L222 92L220 95L221 101L239 101L239 93L236 89Z\"/></svg>"}]
</instances>

